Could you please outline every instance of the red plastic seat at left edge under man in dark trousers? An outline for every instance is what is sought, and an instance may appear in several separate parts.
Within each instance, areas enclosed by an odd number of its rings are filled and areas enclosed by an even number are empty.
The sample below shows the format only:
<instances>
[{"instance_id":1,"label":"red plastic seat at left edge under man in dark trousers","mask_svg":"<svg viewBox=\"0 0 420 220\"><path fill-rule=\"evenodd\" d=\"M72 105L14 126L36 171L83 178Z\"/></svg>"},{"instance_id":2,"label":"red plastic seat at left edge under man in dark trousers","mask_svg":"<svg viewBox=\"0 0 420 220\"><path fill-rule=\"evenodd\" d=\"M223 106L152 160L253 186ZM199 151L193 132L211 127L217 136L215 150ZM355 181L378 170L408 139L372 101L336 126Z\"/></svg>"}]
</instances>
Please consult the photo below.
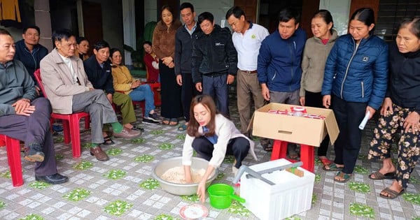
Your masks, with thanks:
<instances>
[{"instance_id":1,"label":"red plastic seat at left edge under man in dark trousers","mask_svg":"<svg viewBox=\"0 0 420 220\"><path fill-rule=\"evenodd\" d=\"M7 160L10 167L13 186L23 185L22 163L20 161L20 142L8 135L0 134L0 141L6 143Z\"/></svg>"}]
</instances>

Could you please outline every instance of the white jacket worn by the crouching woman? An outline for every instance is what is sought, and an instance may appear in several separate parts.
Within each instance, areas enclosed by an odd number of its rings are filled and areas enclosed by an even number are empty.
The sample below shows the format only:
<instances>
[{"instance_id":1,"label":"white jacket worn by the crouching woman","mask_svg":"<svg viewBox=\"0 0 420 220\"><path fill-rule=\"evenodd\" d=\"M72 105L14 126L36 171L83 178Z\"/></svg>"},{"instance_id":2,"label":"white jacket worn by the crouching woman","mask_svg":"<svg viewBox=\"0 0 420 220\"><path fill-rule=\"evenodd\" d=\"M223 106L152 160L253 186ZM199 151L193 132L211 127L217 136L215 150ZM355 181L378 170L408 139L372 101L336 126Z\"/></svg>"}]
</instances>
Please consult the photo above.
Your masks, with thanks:
<instances>
[{"instance_id":1,"label":"white jacket worn by the crouching woman","mask_svg":"<svg viewBox=\"0 0 420 220\"><path fill-rule=\"evenodd\" d=\"M243 135L236 127L233 122L229 119L225 118L221 114L216 115L216 135L218 135L218 141L214 145L213 156L209 161L209 165L213 166L214 168L218 168L221 166L223 159L225 159L226 149L228 147L228 142L230 139L233 138L246 138L249 141L249 152L252 154L253 158L257 160L257 156L254 152L254 142L249 140L245 135ZM186 141L183 145L182 151L182 164L184 166L191 166L191 158L193 157L193 140L195 137L190 135L186 135Z\"/></svg>"}]
</instances>

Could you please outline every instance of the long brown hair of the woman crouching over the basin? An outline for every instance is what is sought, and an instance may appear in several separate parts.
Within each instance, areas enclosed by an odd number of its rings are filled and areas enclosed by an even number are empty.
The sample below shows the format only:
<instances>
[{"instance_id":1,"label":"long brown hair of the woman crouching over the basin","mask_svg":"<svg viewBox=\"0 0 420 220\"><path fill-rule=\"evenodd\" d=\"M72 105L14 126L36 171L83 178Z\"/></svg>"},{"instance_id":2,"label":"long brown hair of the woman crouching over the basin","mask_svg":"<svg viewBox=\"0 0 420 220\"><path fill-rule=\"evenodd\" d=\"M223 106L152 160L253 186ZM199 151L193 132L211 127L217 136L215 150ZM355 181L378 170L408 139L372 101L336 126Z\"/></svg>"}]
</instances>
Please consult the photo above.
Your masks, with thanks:
<instances>
[{"instance_id":1,"label":"long brown hair of the woman crouching over the basin","mask_svg":"<svg viewBox=\"0 0 420 220\"><path fill-rule=\"evenodd\" d=\"M209 129L209 132L206 133L207 136L213 136L216 129L216 123L215 118L217 112L216 104L214 103L213 98L209 95L198 95L193 98L193 101L191 101L190 105L190 122L188 122L187 126L187 133L190 136L193 137L200 137L202 134L198 132L198 128L200 127L200 124L198 124L197 120L194 117L194 107L195 105L202 104L204 108L207 108L209 110L211 119L209 124L206 125L207 129Z\"/></svg>"}]
</instances>

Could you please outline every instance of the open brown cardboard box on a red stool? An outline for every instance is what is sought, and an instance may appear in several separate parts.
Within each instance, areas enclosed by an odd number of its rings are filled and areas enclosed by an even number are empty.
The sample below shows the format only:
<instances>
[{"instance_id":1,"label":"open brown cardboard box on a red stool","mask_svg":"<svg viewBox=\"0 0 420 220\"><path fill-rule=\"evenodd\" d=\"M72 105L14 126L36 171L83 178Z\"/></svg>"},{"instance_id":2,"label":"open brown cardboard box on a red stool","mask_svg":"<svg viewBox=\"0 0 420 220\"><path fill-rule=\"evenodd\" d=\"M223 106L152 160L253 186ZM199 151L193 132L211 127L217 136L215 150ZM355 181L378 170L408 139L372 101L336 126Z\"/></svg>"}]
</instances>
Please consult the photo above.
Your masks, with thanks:
<instances>
[{"instance_id":1,"label":"open brown cardboard box on a red stool","mask_svg":"<svg viewBox=\"0 0 420 220\"><path fill-rule=\"evenodd\" d=\"M307 114L321 115L325 119L269 113L269 111L272 112L273 110L290 111L291 107L300 106L281 103L269 103L262 106L262 108L254 112L248 129L252 128L252 134L255 136L314 147L319 147L328 133L331 144L334 144L335 140L337 140L339 129L332 110L305 107Z\"/></svg>"}]
</instances>

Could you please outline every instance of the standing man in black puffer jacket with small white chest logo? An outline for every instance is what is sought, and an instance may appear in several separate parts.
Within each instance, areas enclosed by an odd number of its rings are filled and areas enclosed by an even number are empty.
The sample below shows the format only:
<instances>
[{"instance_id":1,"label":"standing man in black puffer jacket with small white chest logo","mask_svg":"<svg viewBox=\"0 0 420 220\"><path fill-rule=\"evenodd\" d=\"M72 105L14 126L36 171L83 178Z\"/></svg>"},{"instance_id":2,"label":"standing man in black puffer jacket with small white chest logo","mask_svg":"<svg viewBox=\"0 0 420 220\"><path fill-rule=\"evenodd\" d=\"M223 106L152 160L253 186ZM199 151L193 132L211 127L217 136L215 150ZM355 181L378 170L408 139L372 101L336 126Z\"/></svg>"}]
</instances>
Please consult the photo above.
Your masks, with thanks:
<instances>
[{"instance_id":1,"label":"standing man in black puffer jacket with small white chest logo","mask_svg":"<svg viewBox=\"0 0 420 220\"><path fill-rule=\"evenodd\" d=\"M218 110L229 116L228 85L237 73L237 51L228 28L214 24L209 12L198 16L202 32L193 36L193 82L198 91L216 101Z\"/></svg>"}]
</instances>

